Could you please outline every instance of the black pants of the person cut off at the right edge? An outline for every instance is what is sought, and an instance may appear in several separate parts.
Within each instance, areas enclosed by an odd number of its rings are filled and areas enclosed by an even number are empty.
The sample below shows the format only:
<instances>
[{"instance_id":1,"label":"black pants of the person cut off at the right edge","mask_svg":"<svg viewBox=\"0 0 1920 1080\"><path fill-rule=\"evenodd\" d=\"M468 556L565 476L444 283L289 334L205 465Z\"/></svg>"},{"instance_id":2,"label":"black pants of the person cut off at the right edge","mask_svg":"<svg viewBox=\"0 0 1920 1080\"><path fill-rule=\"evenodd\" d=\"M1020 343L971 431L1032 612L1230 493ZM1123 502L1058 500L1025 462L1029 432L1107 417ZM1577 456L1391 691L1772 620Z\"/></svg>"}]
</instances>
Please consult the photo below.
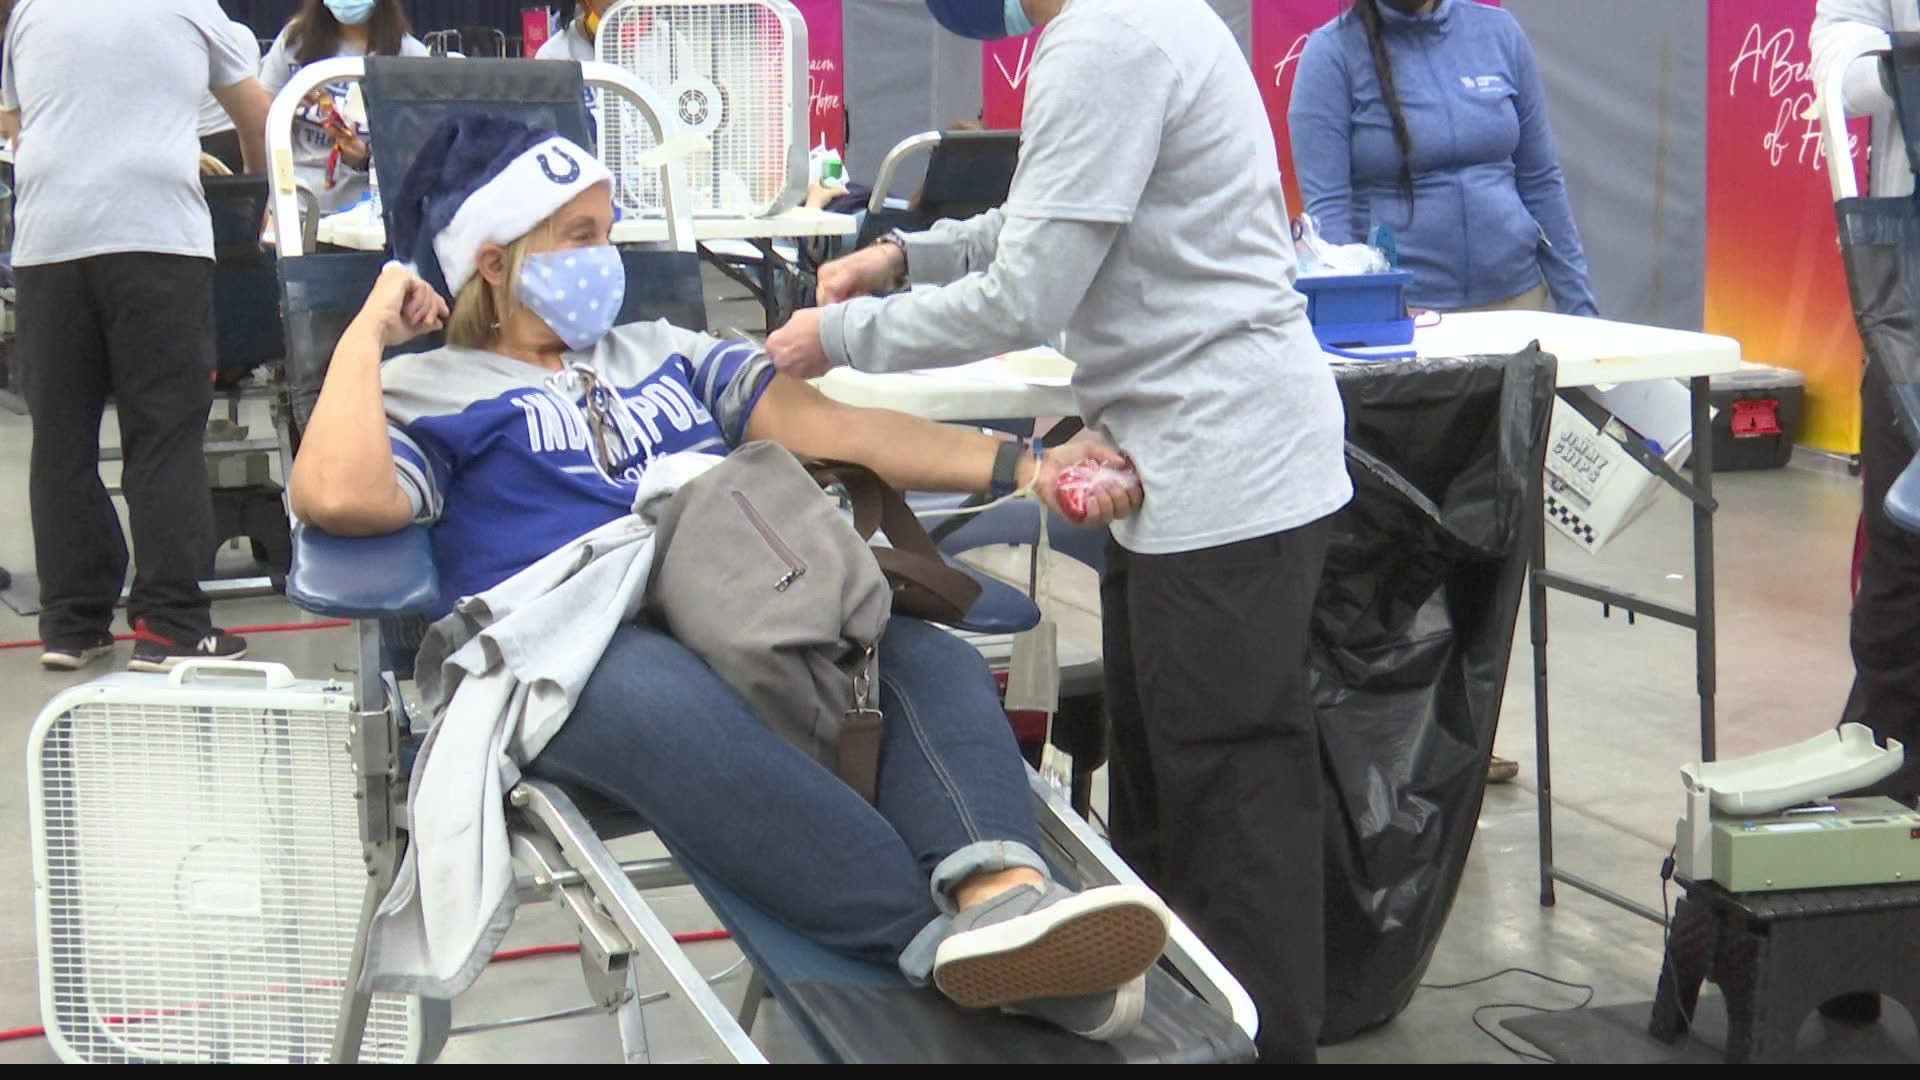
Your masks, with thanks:
<instances>
[{"instance_id":1,"label":"black pants of the person cut off at the right edge","mask_svg":"<svg viewBox=\"0 0 1920 1080\"><path fill-rule=\"evenodd\" d=\"M1860 384L1860 471L1866 555L1853 600L1853 694L1845 719L1901 740L1907 767L1876 792L1920 796L1920 536L1885 511L1887 488L1912 461L1912 442L1893 419L1891 386L1878 365Z\"/></svg>"}]
</instances>

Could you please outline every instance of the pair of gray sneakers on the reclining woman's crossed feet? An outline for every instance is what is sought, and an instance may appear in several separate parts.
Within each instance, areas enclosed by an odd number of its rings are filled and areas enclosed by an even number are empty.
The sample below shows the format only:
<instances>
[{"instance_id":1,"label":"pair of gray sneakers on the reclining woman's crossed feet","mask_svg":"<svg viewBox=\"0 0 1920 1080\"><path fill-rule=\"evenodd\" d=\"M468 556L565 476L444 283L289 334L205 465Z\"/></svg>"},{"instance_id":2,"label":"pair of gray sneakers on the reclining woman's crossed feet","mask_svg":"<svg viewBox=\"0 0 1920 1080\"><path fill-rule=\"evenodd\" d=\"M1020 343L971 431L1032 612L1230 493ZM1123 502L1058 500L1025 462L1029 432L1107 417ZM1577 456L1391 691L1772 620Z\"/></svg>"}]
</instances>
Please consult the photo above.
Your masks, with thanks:
<instances>
[{"instance_id":1,"label":"pair of gray sneakers on the reclining woman's crossed feet","mask_svg":"<svg viewBox=\"0 0 1920 1080\"><path fill-rule=\"evenodd\" d=\"M933 984L966 1009L1012 1007L1087 1038L1119 1038L1140 1020L1142 976L1171 922L1140 886L1020 886L954 917Z\"/></svg>"}]
</instances>

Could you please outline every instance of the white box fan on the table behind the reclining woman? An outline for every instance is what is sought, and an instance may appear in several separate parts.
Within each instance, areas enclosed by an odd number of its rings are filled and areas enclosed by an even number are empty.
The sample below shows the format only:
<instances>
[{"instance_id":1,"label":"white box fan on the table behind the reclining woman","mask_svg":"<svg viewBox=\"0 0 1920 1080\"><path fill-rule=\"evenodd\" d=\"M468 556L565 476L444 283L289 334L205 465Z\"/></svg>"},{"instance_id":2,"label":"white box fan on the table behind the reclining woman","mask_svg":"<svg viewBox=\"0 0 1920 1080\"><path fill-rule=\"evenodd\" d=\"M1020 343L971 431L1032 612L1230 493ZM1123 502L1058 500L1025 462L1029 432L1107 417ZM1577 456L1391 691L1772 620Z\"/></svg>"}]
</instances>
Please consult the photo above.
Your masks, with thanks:
<instances>
[{"instance_id":1,"label":"white box fan on the table behind the reclining woman","mask_svg":"<svg viewBox=\"0 0 1920 1080\"><path fill-rule=\"evenodd\" d=\"M687 161L693 213L755 217L778 208L795 138L793 94L803 92L789 85L797 42L780 12L755 0L620 4L597 42L599 58L645 83L672 123L707 138L710 148ZM601 146L626 213L664 213L659 171L639 165L657 144L639 110L607 98Z\"/></svg>"}]
</instances>

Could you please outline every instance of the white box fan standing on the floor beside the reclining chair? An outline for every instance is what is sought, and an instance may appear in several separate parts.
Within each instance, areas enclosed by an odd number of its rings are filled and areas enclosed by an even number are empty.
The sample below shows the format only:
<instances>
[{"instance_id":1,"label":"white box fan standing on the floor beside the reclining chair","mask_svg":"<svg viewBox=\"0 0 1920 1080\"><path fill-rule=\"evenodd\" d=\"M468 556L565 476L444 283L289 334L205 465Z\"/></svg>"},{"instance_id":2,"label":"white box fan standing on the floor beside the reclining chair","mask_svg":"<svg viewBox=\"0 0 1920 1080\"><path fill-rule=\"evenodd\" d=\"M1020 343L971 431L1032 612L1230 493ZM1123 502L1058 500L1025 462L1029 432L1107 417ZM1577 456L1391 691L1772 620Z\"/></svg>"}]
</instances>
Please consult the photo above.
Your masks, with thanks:
<instances>
[{"instance_id":1,"label":"white box fan standing on the floor beside the reclining chair","mask_svg":"<svg viewBox=\"0 0 1920 1080\"><path fill-rule=\"evenodd\" d=\"M50 1028L90 1063L317 1063L367 888L344 711L83 701L38 753ZM376 995L363 1061L411 1061Z\"/></svg>"}]
</instances>

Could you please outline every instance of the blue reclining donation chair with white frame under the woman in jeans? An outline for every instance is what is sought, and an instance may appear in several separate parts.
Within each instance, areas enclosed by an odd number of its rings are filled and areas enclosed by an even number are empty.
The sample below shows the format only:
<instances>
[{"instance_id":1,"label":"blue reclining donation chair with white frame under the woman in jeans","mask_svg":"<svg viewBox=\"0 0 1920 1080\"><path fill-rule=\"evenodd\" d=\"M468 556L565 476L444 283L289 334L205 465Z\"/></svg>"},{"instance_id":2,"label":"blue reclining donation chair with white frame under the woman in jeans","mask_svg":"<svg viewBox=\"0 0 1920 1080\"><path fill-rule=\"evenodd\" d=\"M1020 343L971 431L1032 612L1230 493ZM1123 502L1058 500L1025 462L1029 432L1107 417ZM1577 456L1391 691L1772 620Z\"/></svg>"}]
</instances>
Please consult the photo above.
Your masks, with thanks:
<instances>
[{"instance_id":1,"label":"blue reclining donation chair with white frame under the woman in jeans","mask_svg":"<svg viewBox=\"0 0 1920 1080\"><path fill-rule=\"evenodd\" d=\"M363 73L369 119L386 156L376 161L380 169L403 169L399 161L411 160L409 148L419 135L430 131L442 115L463 110L484 108L563 133L580 131L586 125L582 79L601 90L624 94L649 123L659 125L641 86L599 63L493 67L470 60L324 61L303 71L275 102L275 110L290 111L292 102L311 85L357 79ZM271 121L271 131L286 127ZM396 133L405 131L415 133L415 142L396 138ZM662 188L668 192L672 240L668 250L622 254L630 286L620 321L666 315L697 327L705 323L699 256L693 252L691 219L682 198L684 177L676 167L662 167ZM275 194L282 202L290 198L284 190ZM378 265L378 256L301 256L298 240L282 238L280 281L292 390L288 413L296 423L311 413L334 342L365 300ZM290 442L298 446L298 429ZM353 1047L361 1042L369 1007L369 995L359 992L365 924L392 884L405 844L401 761L411 724L397 676L411 669L409 642L419 640L419 613L434 609L438 594L424 528L372 540L296 530L290 600L313 613L353 619L359 642L353 676L359 709L355 759L365 796L361 805L369 888L334 1061L351 1061ZM1027 623L1031 617L1029 611ZM407 621L413 623L413 632L405 626ZM1050 855L1068 880L1135 880L1085 822L1043 786L1035 788L1035 798L1052 838ZM931 992L910 988L891 969L829 953L685 861L620 865L607 849L607 838L643 830L645 822L618 807L541 780L518 784L509 803L515 859L528 871L522 896L557 901L578 924L588 986L595 1003L616 1017L628 1061L647 1059L641 1007L660 999L684 1007L685 1028L708 1057L764 1061L749 1038L762 988L781 1001L810 1047L826 1061L1231 1061L1252 1055L1252 1003L1185 926L1175 930L1169 970L1156 970L1152 976L1148 1020L1140 1034L1121 1043L1089 1043L1010 1017L964 1013ZM749 992L745 1017L733 1017L720 1003L641 894L643 888L684 882L699 888L755 965L756 988Z\"/></svg>"}]
</instances>

